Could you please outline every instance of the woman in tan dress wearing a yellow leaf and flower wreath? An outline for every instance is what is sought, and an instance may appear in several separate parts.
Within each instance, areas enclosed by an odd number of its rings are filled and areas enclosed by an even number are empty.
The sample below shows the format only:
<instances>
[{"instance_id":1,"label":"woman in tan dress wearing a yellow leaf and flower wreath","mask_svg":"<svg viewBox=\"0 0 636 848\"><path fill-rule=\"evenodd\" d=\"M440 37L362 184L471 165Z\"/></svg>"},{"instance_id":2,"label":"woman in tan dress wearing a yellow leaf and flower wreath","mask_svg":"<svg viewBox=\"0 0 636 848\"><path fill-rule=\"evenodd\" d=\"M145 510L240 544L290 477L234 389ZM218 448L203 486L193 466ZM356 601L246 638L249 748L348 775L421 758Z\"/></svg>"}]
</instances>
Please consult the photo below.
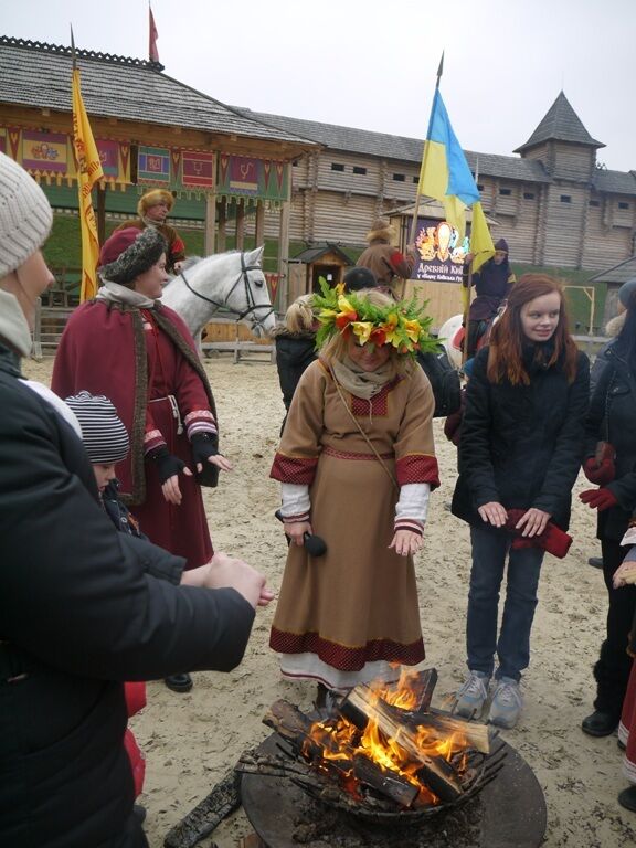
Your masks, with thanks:
<instances>
[{"instance_id":1,"label":"woman in tan dress wearing a yellow leaf and flower wreath","mask_svg":"<svg viewBox=\"0 0 636 848\"><path fill-rule=\"evenodd\" d=\"M347 691L424 659L413 554L438 486L430 318L377 289L315 295L319 359L300 378L271 476L289 552L269 639L288 679ZM311 556L306 533L327 552ZM390 665L391 664L391 665Z\"/></svg>"}]
</instances>

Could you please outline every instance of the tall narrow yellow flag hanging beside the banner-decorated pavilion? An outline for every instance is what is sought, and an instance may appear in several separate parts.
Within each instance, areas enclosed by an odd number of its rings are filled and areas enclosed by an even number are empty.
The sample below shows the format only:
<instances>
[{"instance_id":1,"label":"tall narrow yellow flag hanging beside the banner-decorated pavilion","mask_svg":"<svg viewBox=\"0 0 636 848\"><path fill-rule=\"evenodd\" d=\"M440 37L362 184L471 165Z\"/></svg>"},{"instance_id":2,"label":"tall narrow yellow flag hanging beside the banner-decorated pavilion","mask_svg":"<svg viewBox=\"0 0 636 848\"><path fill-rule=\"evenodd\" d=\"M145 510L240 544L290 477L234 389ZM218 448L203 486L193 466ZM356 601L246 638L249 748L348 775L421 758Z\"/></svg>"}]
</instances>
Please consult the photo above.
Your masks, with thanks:
<instances>
[{"instance_id":1,"label":"tall narrow yellow flag hanging beside the banner-decorated pavilion","mask_svg":"<svg viewBox=\"0 0 636 848\"><path fill-rule=\"evenodd\" d=\"M97 262L99 240L93 211L91 191L104 177L97 146L93 138L88 116L82 99L80 71L73 71L73 145L77 159L77 191L80 194L80 224L82 227L82 288L80 303L97 294Z\"/></svg>"}]
</instances>

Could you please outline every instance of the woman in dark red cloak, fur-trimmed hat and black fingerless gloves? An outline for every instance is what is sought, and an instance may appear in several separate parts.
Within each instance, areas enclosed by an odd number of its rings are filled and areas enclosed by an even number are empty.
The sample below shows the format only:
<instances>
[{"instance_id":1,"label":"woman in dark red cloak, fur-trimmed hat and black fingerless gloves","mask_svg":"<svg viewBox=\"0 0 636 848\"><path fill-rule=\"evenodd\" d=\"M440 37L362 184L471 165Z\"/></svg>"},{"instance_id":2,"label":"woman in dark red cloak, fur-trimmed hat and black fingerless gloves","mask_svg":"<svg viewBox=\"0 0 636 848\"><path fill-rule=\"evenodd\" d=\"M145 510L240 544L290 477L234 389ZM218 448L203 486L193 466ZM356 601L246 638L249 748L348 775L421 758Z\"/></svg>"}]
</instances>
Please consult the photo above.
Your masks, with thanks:
<instances>
[{"instance_id":1,"label":"woman in dark red cloak, fur-trimmed hat and black fingerless gloves","mask_svg":"<svg viewBox=\"0 0 636 848\"><path fill-rule=\"evenodd\" d=\"M166 242L153 229L115 232L99 255L103 286L62 335L53 369L61 398L86 390L113 401L130 434L117 465L121 499L144 532L188 569L213 554L201 485L215 485L219 454L214 399L186 324L162 306ZM187 675L168 686L188 691Z\"/></svg>"}]
</instances>

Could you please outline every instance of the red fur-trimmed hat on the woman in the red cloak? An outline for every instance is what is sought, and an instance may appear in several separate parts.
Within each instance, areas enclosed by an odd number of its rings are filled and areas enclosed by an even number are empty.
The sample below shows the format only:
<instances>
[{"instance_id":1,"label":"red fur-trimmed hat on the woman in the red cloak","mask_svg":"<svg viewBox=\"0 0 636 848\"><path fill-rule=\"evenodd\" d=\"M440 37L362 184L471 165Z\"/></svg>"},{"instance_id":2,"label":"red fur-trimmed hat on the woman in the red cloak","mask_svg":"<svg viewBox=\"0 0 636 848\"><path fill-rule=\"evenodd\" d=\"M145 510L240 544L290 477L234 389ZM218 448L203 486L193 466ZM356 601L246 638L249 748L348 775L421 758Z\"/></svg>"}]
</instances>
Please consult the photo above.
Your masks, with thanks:
<instances>
[{"instance_id":1,"label":"red fur-trimmed hat on the woman in the red cloak","mask_svg":"<svg viewBox=\"0 0 636 848\"><path fill-rule=\"evenodd\" d=\"M156 265L167 250L166 240L153 226L116 230L99 252L99 276L129 286L139 274Z\"/></svg>"}]
</instances>

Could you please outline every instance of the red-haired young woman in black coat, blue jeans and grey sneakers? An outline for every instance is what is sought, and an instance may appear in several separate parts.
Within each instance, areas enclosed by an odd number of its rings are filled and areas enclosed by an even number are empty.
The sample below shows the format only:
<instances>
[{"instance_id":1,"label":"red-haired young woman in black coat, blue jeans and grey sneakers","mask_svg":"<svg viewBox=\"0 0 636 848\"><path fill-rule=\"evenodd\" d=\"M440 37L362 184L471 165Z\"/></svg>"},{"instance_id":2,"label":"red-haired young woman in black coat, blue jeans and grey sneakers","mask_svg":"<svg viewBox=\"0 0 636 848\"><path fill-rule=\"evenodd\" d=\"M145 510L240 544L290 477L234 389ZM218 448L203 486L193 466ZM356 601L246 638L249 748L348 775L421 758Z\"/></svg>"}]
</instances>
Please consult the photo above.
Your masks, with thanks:
<instances>
[{"instance_id":1,"label":"red-haired young woman in black coat, blue jeans and grey sneakers","mask_svg":"<svg viewBox=\"0 0 636 848\"><path fill-rule=\"evenodd\" d=\"M469 676L456 711L480 714L499 665L489 720L511 728L544 550L568 529L571 489L583 455L587 358L569 331L563 292L527 274L477 353L466 392L453 513L470 524L473 569L466 642ZM499 590L508 559L497 634Z\"/></svg>"}]
</instances>

